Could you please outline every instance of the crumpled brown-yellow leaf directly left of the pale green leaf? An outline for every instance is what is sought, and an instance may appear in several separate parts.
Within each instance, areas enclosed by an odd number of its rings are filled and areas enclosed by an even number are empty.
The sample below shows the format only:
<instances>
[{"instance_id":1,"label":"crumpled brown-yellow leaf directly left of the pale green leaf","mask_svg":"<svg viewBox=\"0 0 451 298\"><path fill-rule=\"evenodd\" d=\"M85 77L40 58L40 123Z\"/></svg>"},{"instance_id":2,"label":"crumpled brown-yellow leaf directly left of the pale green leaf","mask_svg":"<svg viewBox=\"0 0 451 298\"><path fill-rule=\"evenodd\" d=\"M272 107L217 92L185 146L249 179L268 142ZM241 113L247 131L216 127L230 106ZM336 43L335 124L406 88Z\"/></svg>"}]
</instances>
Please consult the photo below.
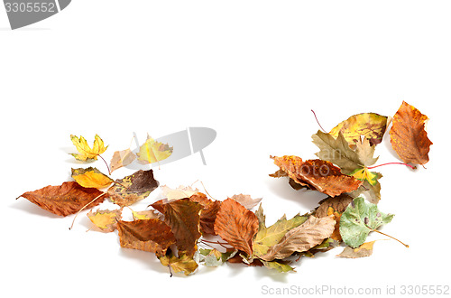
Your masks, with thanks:
<instances>
[{"instance_id":1,"label":"crumpled brown-yellow leaf directly left of the pale green leaf","mask_svg":"<svg viewBox=\"0 0 451 298\"><path fill-rule=\"evenodd\" d=\"M313 212L313 216L318 219L333 216L336 220L336 227L330 237L336 241L342 240L340 236L340 218L351 201L353 201L353 198L345 193L334 198L329 197L321 200L318 208Z\"/></svg>"}]
</instances>

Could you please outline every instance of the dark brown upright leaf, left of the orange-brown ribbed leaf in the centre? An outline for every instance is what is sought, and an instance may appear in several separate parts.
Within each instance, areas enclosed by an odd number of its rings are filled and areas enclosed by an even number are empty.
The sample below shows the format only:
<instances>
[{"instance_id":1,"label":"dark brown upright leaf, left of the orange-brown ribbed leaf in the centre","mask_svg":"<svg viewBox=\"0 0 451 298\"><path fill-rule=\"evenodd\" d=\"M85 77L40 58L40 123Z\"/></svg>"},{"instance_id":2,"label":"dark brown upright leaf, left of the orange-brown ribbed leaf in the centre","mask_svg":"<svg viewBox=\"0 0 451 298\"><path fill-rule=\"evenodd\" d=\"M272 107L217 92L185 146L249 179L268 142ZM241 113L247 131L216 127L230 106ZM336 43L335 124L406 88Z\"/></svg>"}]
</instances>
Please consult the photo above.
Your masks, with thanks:
<instances>
[{"instance_id":1,"label":"dark brown upright leaf, left of the orange-brown ribbed leaf in the centre","mask_svg":"<svg viewBox=\"0 0 451 298\"><path fill-rule=\"evenodd\" d=\"M152 207L164 214L164 221L176 238L179 256L193 256L201 236L199 225L202 205L189 199L180 199L169 202L159 200Z\"/></svg>"}]
</instances>

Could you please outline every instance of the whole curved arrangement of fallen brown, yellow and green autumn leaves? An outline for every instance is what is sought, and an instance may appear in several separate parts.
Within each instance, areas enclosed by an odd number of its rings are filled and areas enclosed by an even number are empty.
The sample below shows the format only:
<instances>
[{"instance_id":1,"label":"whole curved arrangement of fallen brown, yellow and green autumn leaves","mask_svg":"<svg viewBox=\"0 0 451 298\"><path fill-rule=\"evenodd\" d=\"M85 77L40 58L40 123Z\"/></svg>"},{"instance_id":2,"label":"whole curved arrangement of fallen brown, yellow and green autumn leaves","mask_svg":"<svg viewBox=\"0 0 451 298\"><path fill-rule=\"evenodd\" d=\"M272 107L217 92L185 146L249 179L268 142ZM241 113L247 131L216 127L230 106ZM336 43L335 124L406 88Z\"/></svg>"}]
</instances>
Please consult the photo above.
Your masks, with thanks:
<instances>
[{"instance_id":1,"label":"whole curved arrangement of fallen brown, yellow and green autumn leaves","mask_svg":"<svg viewBox=\"0 0 451 298\"><path fill-rule=\"evenodd\" d=\"M392 118L392 148L401 164L412 169L416 167L409 163L428 163L432 142L425 131L427 119L405 102ZM294 189L320 191L328 197L316 210L292 219L283 215L270 227L266 226L262 204L252 211L261 199L240 194L214 200L191 187L160 186L163 200L153 202L149 206L152 209L132 210L133 220L123 220L124 207L130 208L159 188L152 170L140 170L114 181L97 168L72 169L74 181L25 192L21 197L63 217L111 200L118 206L116 210L87 213L95 227L103 232L117 229L121 247L154 253L171 273L189 275L199 264L217 266L226 262L289 272L293 271L290 263L301 256L314 256L342 243L345 248L338 256L370 256L374 241L365 243L366 237L370 232L382 233L377 228L393 218L377 207L382 174L370 171L377 167L373 165L378 159L373 157L375 146L382 142L390 123L391 117L375 113L354 115L329 133L312 135L319 159L272 156L279 167L272 177L288 177ZM92 148L82 136L71 135L71 140L78 150L72 155L81 162L97 160L107 148L98 135ZM130 149L115 152L110 166L106 164L108 174L134 160L158 163L171 153L168 144L148 137L138 154Z\"/></svg>"}]
</instances>

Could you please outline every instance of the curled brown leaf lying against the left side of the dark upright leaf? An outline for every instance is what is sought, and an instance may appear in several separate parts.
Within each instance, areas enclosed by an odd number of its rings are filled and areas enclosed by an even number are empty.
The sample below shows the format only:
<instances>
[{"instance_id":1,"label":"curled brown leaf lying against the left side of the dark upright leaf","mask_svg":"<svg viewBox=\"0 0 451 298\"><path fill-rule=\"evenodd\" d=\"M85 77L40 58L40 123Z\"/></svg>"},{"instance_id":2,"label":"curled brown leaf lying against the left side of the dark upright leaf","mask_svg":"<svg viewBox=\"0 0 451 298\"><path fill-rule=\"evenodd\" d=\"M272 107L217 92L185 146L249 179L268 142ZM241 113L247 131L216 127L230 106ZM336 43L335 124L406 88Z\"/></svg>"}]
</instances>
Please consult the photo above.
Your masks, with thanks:
<instances>
[{"instance_id":1,"label":"curled brown leaf lying against the left side of the dark upright leaf","mask_svg":"<svg viewBox=\"0 0 451 298\"><path fill-rule=\"evenodd\" d=\"M176 239L170 227L160 219L117 221L121 247L133 248L164 256Z\"/></svg>"}]
</instances>

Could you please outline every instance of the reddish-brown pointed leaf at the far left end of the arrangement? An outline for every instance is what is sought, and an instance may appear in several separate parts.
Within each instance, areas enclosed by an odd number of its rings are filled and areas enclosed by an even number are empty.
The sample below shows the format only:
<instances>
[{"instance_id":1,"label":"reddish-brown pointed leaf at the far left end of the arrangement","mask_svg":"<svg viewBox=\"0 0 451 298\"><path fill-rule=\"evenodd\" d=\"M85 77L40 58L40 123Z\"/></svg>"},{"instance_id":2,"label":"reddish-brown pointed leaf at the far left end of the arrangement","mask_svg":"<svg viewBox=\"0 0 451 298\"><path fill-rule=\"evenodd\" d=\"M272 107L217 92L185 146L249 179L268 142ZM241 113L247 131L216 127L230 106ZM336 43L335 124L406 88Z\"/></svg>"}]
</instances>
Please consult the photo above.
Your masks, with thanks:
<instances>
[{"instance_id":1,"label":"reddish-brown pointed leaf at the far left end of the arrangement","mask_svg":"<svg viewBox=\"0 0 451 298\"><path fill-rule=\"evenodd\" d=\"M97 189L85 188L77 182L64 182L60 186L46 186L41 190L27 191L21 197L30 200L43 210L60 216L77 213L85 205L93 208L104 201L108 195ZM94 200L96 199L97 200Z\"/></svg>"}]
</instances>

